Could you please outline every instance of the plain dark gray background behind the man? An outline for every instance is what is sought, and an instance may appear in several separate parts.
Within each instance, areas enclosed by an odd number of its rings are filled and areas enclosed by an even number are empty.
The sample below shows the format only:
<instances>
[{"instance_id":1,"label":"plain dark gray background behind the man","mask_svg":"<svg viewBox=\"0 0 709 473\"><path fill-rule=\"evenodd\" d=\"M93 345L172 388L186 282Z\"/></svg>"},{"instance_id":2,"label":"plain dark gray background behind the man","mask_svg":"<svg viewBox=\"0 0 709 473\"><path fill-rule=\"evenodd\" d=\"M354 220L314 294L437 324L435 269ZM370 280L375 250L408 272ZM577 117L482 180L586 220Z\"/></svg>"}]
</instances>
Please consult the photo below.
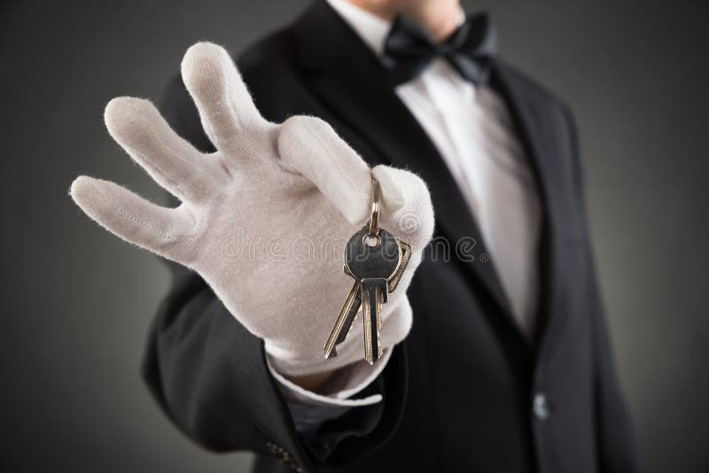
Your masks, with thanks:
<instances>
[{"instance_id":1,"label":"plain dark gray background behind the man","mask_svg":"<svg viewBox=\"0 0 709 473\"><path fill-rule=\"evenodd\" d=\"M183 438L139 376L167 271L67 197L77 174L161 192L105 133L114 96L160 97L183 51L238 51L307 2L3 2L0 469L241 471ZM576 112L619 376L649 472L709 471L709 6L464 2L501 54ZM474 419L471 419L474 422Z\"/></svg>"}]
</instances>

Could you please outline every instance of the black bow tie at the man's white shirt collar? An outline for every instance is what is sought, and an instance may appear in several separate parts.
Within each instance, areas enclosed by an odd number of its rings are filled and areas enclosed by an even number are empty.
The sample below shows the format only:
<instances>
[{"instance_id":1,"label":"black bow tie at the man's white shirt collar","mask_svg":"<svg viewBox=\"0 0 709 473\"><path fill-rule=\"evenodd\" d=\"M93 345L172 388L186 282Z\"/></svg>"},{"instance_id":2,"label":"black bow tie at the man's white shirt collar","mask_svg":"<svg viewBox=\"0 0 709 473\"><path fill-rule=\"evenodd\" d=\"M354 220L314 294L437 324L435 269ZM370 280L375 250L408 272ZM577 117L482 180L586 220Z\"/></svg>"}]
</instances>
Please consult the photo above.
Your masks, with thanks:
<instances>
[{"instance_id":1,"label":"black bow tie at the man's white shirt collar","mask_svg":"<svg viewBox=\"0 0 709 473\"><path fill-rule=\"evenodd\" d=\"M384 43L382 62L395 87L420 74L433 58L446 58L465 79L479 85L490 75L495 28L486 13L467 17L443 43L434 43L416 21L397 16Z\"/></svg>"}]
</instances>

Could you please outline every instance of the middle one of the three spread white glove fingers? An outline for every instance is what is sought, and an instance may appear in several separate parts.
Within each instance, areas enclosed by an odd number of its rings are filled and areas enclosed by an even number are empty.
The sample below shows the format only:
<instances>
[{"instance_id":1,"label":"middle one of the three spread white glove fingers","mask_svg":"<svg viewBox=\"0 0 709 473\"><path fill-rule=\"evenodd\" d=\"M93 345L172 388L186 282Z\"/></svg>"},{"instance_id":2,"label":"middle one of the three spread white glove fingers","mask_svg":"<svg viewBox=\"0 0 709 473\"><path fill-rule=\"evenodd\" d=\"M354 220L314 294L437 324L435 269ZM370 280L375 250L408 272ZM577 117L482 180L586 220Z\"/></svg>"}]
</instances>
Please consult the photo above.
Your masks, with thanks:
<instances>
[{"instance_id":1,"label":"middle one of the three spread white glove fingers","mask_svg":"<svg viewBox=\"0 0 709 473\"><path fill-rule=\"evenodd\" d=\"M141 98L114 98L104 120L113 139L165 190L188 201L209 197L214 184L206 175L206 157L177 136L155 105Z\"/></svg>"}]
</instances>

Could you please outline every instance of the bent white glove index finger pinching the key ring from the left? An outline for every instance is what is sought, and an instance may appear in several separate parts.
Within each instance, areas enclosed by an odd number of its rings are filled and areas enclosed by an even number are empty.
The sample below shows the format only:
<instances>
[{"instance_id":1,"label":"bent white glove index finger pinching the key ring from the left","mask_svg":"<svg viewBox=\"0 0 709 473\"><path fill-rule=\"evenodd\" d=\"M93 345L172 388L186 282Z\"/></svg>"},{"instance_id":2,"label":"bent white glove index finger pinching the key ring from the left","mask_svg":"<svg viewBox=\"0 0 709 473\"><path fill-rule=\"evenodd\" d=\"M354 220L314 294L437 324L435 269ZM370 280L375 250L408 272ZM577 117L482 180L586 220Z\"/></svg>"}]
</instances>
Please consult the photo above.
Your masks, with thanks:
<instances>
[{"instance_id":1,"label":"bent white glove index finger pinching the key ring from the left","mask_svg":"<svg viewBox=\"0 0 709 473\"><path fill-rule=\"evenodd\" d=\"M278 134L285 167L308 177L347 221L360 224L370 212L370 167L325 121L294 116Z\"/></svg>"}]
</instances>

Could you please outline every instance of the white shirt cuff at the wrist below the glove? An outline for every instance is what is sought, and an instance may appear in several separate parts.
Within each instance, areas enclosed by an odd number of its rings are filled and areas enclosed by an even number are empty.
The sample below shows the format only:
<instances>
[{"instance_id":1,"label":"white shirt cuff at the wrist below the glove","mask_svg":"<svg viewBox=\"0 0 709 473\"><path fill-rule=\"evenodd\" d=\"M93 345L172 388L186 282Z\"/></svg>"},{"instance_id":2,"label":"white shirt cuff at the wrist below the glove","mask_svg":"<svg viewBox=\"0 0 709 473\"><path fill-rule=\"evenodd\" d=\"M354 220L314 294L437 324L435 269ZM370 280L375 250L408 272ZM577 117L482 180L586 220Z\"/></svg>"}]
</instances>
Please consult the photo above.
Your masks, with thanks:
<instances>
[{"instance_id":1,"label":"white shirt cuff at the wrist below the glove","mask_svg":"<svg viewBox=\"0 0 709 473\"><path fill-rule=\"evenodd\" d=\"M311 406L323 407L358 407L371 406L381 402L381 394L371 394L362 399L349 399L364 388L369 386L377 376L386 368L386 363L391 357L392 349L386 348L382 358L374 366L370 366L366 361L358 361L347 367L340 368L335 375L336 379L331 385L327 394L319 394L301 388L298 384L292 383L284 378L273 368L269 356L266 356L266 364L269 367L271 376L276 379L280 391L288 401L300 402Z\"/></svg>"}]
</instances>

